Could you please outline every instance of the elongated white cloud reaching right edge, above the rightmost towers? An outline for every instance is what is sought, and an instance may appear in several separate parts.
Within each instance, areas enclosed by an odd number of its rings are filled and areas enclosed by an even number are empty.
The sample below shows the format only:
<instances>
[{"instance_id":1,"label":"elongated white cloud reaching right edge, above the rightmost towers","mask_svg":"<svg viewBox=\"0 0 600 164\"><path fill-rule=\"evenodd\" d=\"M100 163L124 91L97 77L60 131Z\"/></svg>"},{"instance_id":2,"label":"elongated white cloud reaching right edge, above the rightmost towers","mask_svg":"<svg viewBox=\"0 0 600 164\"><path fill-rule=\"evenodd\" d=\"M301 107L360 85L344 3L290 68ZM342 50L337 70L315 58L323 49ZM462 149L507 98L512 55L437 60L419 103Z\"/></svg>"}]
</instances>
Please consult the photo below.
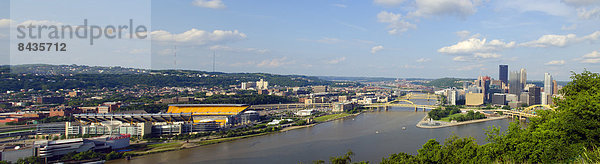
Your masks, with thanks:
<instances>
[{"instance_id":1,"label":"elongated white cloud reaching right edge, above the rightmost towers","mask_svg":"<svg viewBox=\"0 0 600 164\"><path fill-rule=\"evenodd\" d=\"M578 42L583 42L583 41L595 41L598 40L598 38L600 37L600 31L596 31L592 34L583 36L583 37L577 37L577 35L575 34L566 34L566 35L554 35L554 34L550 34L550 35L544 35L542 37L540 37L537 40L534 41L529 41L529 42L525 42L525 43L521 43L519 44L519 46L525 46L525 47L549 47L549 46L555 46L555 47L565 47L568 46L570 44L574 44L574 43L578 43Z\"/></svg>"}]
</instances>

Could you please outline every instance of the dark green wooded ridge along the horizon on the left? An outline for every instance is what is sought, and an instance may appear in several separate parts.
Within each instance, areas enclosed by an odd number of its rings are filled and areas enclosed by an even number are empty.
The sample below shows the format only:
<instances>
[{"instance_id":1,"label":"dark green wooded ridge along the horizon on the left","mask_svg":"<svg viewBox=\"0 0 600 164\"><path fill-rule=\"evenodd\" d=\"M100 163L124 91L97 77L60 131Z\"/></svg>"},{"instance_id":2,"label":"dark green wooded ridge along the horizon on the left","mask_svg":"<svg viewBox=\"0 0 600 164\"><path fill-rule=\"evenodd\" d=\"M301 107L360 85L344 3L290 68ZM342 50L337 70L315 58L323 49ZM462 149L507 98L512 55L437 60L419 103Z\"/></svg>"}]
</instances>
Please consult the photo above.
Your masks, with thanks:
<instances>
[{"instance_id":1,"label":"dark green wooded ridge along the horizon on the left","mask_svg":"<svg viewBox=\"0 0 600 164\"><path fill-rule=\"evenodd\" d=\"M97 89L133 87L136 85L156 87L228 87L245 81L264 79L270 85L302 87L311 85L336 85L332 81L318 77L301 75L273 75L264 73L218 73L202 71L153 71L159 74L82 74L72 75L35 75L11 74L7 66L0 69L0 91L20 89L58 90L58 89ZM163 75L168 74L168 75ZM193 76L207 74L209 77ZM358 85L352 83L352 85Z\"/></svg>"}]
</instances>

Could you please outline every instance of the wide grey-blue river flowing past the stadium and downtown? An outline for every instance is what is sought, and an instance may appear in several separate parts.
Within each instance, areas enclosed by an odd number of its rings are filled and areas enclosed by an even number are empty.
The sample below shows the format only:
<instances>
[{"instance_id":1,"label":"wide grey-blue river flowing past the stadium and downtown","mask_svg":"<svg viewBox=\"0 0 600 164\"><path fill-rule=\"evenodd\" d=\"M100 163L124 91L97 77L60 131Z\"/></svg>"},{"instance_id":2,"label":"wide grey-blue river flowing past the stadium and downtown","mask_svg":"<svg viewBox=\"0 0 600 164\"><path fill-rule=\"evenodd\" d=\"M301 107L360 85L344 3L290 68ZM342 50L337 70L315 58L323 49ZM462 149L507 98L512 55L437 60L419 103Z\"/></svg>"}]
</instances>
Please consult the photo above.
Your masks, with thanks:
<instances>
[{"instance_id":1,"label":"wide grey-blue river flowing past the stadium and downtown","mask_svg":"<svg viewBox=\"0 0 600 164\"><path fill-rule=\"evenodd\" d=\"M425 115L414 108L391 108L308 128L108 163L312 163L327 161L349 149L355 153L353 161L378 163L392 153L416 154L427 140L443 142L452 134L472 136L483 144L484 129L495 125L504 130L510 122L504 119L440 129L417 128L415 125Z\"/></svg>"}]
</instances>

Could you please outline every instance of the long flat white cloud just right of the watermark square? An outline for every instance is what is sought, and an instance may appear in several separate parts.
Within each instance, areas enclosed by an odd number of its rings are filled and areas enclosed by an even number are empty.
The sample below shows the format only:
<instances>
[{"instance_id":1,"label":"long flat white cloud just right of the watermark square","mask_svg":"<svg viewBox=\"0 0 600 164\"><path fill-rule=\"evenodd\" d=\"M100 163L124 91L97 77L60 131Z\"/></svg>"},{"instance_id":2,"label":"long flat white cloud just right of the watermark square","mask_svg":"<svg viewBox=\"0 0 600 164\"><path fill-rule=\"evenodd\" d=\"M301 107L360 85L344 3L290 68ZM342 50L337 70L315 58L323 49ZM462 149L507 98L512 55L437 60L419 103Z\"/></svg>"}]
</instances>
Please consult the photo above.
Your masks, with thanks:
<instances>
[{"instance_id":1,"label":"long flat white cloud just right of the watermark square","mask_svg":"<svg viewBox=\"0 0 600 164\"><path fill-rule=\"evenodd\" d=\"M152 35L152 40L160 42L175 42L178 44L189 45L218 44L222 42L236 41L246 38L246 34L241 33L237 30L214 30L213 32L208 32L198 29L191 29L180 34L171 34L170 32L159 30L152 31L150 34Z\"/></svg>"}]
</instances>

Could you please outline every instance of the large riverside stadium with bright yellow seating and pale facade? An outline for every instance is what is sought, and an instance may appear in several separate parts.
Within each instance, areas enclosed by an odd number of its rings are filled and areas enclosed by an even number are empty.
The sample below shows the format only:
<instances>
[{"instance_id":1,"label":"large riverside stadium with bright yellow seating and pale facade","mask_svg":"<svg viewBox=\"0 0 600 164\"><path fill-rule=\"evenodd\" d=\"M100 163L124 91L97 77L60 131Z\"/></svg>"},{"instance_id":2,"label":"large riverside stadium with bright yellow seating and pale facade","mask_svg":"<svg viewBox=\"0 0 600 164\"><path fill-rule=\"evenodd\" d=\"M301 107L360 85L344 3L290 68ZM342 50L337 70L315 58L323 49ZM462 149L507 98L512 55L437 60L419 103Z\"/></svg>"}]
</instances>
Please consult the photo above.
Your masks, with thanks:
<instances>
[{"instance_id":1,"label":"large riverside stadium with bright yellow seating and pale facade","mask_svg":"<svg viewBox=\"0 0 600 164\"><path fill-rule=\"evenodd\" d=\"M65 134L133 136L170 135L215 131L257 121L257 112L246 104L172 104L167 113L155 114L74 114L77 122L67 122Z\"/></svg>"}]
</instances>

